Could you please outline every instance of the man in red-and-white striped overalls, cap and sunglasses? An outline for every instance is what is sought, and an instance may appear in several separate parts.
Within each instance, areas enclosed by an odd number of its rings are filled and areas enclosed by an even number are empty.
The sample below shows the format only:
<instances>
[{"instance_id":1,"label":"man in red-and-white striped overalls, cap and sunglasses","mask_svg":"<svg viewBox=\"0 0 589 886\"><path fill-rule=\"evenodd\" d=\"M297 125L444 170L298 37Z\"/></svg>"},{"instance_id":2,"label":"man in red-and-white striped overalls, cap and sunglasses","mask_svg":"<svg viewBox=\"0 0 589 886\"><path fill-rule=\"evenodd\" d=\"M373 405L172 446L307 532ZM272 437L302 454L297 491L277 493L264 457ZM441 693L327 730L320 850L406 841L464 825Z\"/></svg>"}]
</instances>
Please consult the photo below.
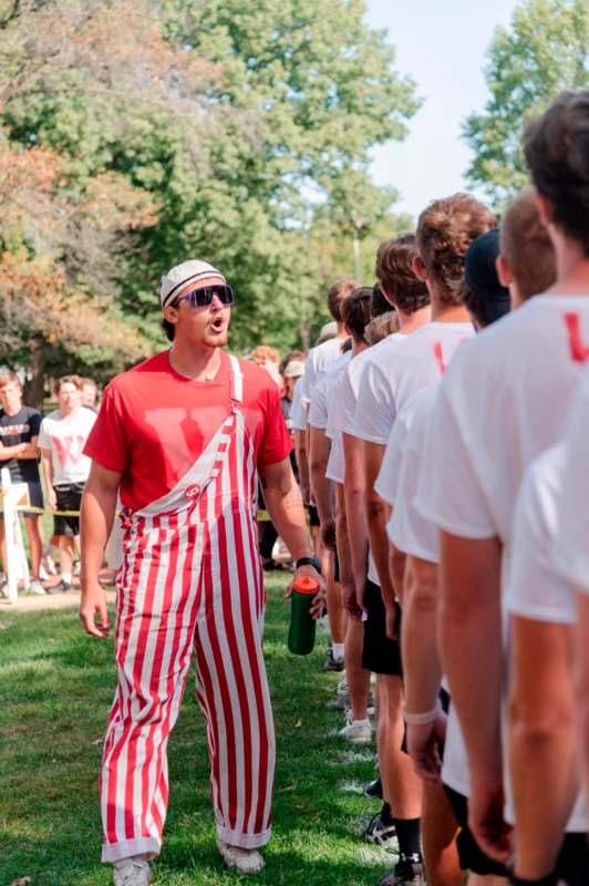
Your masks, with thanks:
<instances>
[{"instance_id":1,"label":"man in red-and-white striped overalls, cap and sunglasses","mask_svg":"<svg viewBox=\"0 0 589 886\"><path fill-rule=\"evenodd\" d=\"M104 743L103 861L116 886L146 886L167 808L167 740L194 656L207 722L217 846L254 873L270 838L275 735L262 657L258 473L298 575L319 578L276 383L223 348L234 292L204 261L162 280L169 350L117 375L85 452L85 630L107 637L99 569L122 502L118 683ZM316 614L322 600L316 601Z\"/></svg>"}]
</instances>

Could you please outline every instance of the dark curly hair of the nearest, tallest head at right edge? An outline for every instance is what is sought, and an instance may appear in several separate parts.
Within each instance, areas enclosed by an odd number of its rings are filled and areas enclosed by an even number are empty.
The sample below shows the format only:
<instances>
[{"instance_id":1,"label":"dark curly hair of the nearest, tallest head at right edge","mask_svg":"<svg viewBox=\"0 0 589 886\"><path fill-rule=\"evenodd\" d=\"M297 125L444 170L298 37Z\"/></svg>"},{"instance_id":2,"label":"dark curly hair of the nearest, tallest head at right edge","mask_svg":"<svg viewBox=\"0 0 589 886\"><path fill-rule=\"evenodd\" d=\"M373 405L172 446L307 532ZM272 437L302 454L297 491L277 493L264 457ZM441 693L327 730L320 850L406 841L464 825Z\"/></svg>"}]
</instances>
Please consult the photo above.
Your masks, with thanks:
<instances>
[{"instance_id":1,"label":"dark curly hair of the nearest, tallest head at right edge","mask_svg":"<svg viewBox=\"0 0 589 886\"><path fill-rule=\"evenodd\" d=\"M561 92L529 123L524 154L554 224L589 257L589 90Z\"/></svg>"}]
</instances>

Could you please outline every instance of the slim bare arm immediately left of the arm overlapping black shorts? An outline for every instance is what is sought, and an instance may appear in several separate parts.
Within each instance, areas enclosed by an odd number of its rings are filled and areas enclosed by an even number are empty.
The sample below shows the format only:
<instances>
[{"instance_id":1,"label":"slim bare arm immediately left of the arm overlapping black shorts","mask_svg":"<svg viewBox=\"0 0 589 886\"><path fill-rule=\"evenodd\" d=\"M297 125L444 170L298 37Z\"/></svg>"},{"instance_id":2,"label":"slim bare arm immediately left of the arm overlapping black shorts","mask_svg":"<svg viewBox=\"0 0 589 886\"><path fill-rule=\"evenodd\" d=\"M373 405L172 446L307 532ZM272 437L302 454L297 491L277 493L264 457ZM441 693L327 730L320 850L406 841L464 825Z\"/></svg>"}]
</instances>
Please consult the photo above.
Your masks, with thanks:
<instances>
[{"instance_id":1,"label":"slim bare arm immediately left of the arm overlapping black shorts","mask_svg":"<svg viewBox=\"0 0 589 886\"><path fill-rule=\"evenodd\" d=\"M368 526L364 508L364 465L362 460L362 441L352 434L342 433L343 457L345 463L345 483L343 495L345 501L345 518L350 539L350 556L354 576L355 601L352 608L364 610L364 588L368 566ZM352 609L349 608L352 615Z\"/></svg>"}]
</instances>

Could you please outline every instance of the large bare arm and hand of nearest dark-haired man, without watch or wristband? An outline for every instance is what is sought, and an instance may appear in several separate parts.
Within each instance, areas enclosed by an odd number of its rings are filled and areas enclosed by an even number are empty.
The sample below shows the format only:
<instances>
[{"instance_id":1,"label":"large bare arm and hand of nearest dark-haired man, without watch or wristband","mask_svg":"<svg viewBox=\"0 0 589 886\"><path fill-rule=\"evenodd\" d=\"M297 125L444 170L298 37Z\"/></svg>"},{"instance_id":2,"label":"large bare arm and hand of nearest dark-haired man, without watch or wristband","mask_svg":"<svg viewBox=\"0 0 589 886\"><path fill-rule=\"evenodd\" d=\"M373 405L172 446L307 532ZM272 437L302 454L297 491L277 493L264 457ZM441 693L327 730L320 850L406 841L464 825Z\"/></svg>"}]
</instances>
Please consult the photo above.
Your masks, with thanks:
<instances>
[{"instance_id":1,"label":"large bare arm and hand of nearest dark-haired man, without watch or wristband","mask_svg":"<svg viewBox=\"0 0 589 886\"><path fill-rule=\"evenodd\" d=\"M482 848L504 861L500 563L498 538L441 533L440 648L468 756L469 824Z\"/></svg>"}]
</instances>

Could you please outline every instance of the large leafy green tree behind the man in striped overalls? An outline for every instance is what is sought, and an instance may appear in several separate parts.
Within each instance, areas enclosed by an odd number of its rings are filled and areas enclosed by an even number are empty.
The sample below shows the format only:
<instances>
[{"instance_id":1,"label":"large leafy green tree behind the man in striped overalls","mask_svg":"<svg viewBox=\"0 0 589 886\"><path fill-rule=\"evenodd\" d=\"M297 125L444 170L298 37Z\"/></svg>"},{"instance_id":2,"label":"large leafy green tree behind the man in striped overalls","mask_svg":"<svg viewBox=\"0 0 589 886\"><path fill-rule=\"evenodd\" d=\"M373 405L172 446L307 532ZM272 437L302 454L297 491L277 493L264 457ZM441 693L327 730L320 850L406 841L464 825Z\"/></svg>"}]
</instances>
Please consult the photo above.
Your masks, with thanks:
<instances>
[{"instance_id":1,"label":"large leafy green tree behind the man in striped overalls","mask_svg":"<svg viewBox=\"0 0 589 886\"><path fill-rule=\"evenodd\" d=\"M121 321L161 347L159 276L203 257L238 293L234 350L294 344L301 321L322 318L326 268L349 274L351 225L360 218L370 238L391 217L395 193L371 183L370 148L402 138L418 107L364 3L326 0L321 14L311 0L20 10L0 49L7 136L66 156L82 189L112 173L156 207L89 286L116 293ZM309 250L319 238L335 260Z\"/></svg>"}]
</instances>

